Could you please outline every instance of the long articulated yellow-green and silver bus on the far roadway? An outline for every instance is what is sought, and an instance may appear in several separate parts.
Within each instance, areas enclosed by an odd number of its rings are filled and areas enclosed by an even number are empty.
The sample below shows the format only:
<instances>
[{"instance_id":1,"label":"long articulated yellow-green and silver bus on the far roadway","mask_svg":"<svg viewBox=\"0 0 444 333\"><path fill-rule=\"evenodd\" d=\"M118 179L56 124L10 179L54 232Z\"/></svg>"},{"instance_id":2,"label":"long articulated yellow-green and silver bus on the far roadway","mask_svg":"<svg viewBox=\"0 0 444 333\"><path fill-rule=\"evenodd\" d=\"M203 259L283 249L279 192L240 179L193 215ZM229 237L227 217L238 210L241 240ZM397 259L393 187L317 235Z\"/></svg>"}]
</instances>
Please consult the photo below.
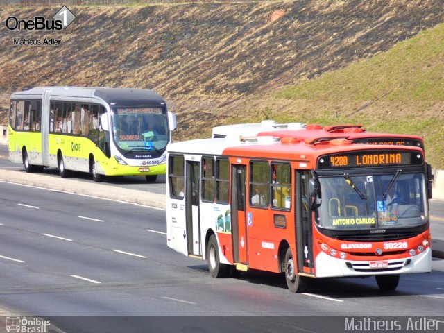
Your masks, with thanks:
<instances>
[{"instance_id":1,"label":"long articulated yellow-green and silver bus on the far roadway","mask_svg":"<svg viewBox=\"0 0 444 333\"><path fill-rule=\"evenodd\" d=\"M165 101L148 89L35 87L12 94L9 158L26 172L57 167L104 176L167 170L167 144L177 127Z\"/></svg>"}]
</instances>

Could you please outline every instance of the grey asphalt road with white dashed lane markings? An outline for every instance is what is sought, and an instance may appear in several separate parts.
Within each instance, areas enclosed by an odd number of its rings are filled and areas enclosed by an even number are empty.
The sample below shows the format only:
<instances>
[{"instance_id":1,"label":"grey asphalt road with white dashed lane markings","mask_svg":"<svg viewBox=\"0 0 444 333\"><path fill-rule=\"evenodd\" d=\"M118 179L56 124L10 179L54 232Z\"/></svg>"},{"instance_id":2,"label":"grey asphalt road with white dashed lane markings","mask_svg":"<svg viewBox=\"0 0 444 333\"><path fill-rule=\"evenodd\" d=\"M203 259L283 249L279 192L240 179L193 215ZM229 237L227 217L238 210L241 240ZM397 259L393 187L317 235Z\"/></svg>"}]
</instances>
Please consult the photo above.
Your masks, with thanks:
<instances>
[{"instance_id":1,"label":"grey asphalt road with white dashed lane markings","mask_svg":"<svg viewBox=\"0 0 444 333\"><path fill-rule=\"evenodd\" d=\"M6 167L22 169L0 158ZM327 279L296 295L271 273L211 278L205 262L167 247L164 210L5 182L0 203L0 305L65 332L343 332L325 316L444 319L443 259L430 274L402 276L393 292L374 278ZM444 234L443 202L431 210L432 232Z\"/></svg>"}]
</instances>

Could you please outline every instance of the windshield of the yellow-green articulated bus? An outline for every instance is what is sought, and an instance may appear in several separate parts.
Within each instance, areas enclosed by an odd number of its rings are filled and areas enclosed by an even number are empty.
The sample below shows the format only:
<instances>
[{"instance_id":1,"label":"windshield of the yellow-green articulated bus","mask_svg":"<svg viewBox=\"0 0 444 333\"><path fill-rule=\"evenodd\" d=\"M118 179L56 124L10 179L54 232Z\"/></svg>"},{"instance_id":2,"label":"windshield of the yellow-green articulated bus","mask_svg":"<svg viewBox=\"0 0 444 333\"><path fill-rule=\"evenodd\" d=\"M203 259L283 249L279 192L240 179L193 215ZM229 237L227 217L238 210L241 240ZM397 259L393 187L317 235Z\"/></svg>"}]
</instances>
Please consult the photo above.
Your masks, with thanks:
<instances>
[{"instance_id":1,"label":"windshield of the yellow-green articulated bus","mask_svg":"<svg viewBox=\"0 0 444 333\"><path fill-rule=\"evenodd\" d=\"M117 148L126 155L141 151L163 151L168 144L167 112L162 108L114 108L112 137Z\"/></svg>"}]
</instances>

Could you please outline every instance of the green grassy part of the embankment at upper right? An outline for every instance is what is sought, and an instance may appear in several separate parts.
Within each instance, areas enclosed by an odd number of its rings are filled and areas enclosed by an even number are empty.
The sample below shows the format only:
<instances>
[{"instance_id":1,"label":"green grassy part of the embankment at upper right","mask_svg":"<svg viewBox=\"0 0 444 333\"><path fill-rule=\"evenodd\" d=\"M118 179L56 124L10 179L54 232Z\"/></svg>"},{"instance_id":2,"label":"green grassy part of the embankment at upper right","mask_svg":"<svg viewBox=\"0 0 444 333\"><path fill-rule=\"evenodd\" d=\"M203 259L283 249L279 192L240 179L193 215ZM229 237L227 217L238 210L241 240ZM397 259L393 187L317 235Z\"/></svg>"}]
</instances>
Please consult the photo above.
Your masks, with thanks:
<instances>
[{"instance_id":1,"label":"green grassy part of the embankment at upper right","mask_svg":"<svg viewBox=\"0 0 444 333\"><path fill-rule=\"evenodd\" d=\"M361 123L372 131L420 135L425 139L428 161L443 169L444 24L373 58L282 87L272 99L279 103L287 100L306 112L296 111L295 119L285 107L284 115L266 107L258 117L248 120L296 120L324 126Z\"/></svg>"}]
</instances>

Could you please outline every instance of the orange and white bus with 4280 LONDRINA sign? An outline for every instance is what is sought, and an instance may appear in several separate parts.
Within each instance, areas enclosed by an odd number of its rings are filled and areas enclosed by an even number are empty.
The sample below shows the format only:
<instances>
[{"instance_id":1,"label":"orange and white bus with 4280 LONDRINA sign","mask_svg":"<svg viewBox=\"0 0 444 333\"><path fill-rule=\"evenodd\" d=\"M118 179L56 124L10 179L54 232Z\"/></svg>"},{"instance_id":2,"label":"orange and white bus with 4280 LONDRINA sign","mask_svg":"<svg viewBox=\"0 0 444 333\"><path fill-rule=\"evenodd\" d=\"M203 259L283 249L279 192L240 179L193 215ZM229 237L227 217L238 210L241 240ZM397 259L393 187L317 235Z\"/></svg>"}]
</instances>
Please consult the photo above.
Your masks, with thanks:
<instances>
[{"instance_id":1,"label":"orange and white bus with 4280 LONDRINA sign","mask_svg":"<svg viewBox=\"0 0 444 333\"><path fill-rule=\"evenodd\" d=\"M432 173L414 146L234 137L170 144L167 244L206 259L214 278L284 273L310 278L431 271Z\"/></svg>"}]
</instances>

